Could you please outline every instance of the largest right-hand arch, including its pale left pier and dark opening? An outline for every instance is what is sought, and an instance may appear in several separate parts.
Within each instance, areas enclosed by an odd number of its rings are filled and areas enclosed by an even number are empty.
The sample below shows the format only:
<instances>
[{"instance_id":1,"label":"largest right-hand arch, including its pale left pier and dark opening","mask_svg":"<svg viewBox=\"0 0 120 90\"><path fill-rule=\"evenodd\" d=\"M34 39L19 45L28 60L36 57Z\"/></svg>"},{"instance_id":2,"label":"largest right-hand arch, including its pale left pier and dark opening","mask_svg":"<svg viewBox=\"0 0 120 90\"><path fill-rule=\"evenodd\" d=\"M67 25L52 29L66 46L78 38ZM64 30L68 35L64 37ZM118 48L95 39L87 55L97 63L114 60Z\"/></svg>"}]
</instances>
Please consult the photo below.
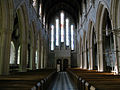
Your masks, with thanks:
<instances>
[{"instance_id":1,"label":"largest right-hand arch, including its pale left pier and dark opening","mask_svg":"<svg viewBox=\"0 0 120 90\"><path fill-rule=\"evenodd\" d=\"M107 7L103 4L99 4L96 19L96 32L97 32L97 59L99 71L110 71L108 67L111 67L110 59L106 56L111 52L111 46L113 41L112 25ZM111 39L110 39L111 37ZM108 39L108 40L107 40ZM108 42L107 42L108 41ZM107 44L107 45L106 45ZM109 44L109 45L108 45ZM108 49L108 50L107 50Z\"/></svg>"}]
</instances>

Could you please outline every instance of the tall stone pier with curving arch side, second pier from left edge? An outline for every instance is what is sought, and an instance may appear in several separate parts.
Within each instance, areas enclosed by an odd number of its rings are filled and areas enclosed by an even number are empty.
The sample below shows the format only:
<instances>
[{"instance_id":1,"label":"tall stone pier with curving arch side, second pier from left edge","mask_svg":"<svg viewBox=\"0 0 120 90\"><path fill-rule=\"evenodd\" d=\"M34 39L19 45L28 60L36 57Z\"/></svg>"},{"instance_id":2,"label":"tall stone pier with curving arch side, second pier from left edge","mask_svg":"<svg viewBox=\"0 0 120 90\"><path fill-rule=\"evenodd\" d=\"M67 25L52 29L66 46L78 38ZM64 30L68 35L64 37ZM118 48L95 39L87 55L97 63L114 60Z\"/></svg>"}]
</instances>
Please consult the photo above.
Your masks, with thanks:
<instances>
[{"instance_id":1,"label":"tall stone pier with curving arch side, second pier from left edge","mask_svg":"<svg viewBox=\"0 0 120 90\"><path fill-rule=\"evenodd\" d=\"M18 25L20 32L20 65L19 70L24 72L27 69L27 47L28 47L28 26L29 24L26 21L28 18L27 11L25 9L25 4L21 5L21 7L17 10L18 15Z\"/></svg>"}]
</instances>

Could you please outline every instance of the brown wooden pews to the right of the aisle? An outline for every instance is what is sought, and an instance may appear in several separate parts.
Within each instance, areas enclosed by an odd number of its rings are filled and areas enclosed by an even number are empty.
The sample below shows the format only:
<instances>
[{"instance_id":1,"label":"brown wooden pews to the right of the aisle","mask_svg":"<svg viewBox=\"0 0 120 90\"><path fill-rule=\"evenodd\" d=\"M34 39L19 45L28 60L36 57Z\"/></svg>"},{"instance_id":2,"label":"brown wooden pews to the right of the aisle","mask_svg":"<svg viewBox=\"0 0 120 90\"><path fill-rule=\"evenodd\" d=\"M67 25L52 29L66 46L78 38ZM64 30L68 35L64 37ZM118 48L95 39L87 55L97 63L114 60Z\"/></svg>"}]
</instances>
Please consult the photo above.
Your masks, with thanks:
<instances>
[{"instance_id":1,"label":"brown wooden pews to the right of the aisle","mask_svg":"<svg viewBox=\"0 0 120 90\"><path fill-rule=\"evenodd\" d=\"M78 90L120 90L120 75L79 68L67 69Z\"/></svg>"}]
</instances>

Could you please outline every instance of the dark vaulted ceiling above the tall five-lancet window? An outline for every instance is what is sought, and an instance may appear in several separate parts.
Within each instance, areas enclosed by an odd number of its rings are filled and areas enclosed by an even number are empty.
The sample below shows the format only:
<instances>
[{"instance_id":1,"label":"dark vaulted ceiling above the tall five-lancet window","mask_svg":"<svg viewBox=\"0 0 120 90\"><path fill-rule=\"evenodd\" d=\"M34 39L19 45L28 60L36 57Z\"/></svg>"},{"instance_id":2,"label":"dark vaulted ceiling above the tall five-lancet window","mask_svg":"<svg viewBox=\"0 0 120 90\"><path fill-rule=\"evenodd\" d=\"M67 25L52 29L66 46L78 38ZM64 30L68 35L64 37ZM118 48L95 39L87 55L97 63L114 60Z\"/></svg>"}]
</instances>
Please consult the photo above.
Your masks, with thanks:
<instances>
[{"instance_id":1,"label":"dark vaulted ceiling above the tall five-lancet window","mask_svg":"<svg viewBox=\"0 0 120 90\"><path fill-rule=\"evenodd\" d=\"M42 7L46 21L49 22L51 18L59 11L64 10L77 23L79 19L79 12L82 8L83 0L43 0Z\"/></svg>"}]
</instances>

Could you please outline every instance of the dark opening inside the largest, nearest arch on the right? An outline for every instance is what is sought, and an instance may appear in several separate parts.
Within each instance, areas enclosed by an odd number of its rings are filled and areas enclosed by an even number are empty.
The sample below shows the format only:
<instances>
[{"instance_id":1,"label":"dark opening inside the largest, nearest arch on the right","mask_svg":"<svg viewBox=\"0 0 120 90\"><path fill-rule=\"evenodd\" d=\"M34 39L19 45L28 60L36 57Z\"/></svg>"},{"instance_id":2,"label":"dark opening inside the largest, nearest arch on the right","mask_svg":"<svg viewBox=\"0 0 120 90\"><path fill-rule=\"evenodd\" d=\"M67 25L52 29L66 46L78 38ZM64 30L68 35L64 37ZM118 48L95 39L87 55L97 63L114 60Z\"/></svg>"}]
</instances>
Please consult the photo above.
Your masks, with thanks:
<instances>
[{"instance_id":1,"label":"dark opening inside the largest, nearest arch on the right","mask_svg":"<svg viewBox=\"0 0 120 90\"><path fill-rule=\"evenodd\" d=\"M112 25L107 9L104 11L102 21L102 40L103 40L103 66L105 71L111 71L112 66L114 68L115 58L114 57L114 40Z\"/></svg>"}]
</instances>

